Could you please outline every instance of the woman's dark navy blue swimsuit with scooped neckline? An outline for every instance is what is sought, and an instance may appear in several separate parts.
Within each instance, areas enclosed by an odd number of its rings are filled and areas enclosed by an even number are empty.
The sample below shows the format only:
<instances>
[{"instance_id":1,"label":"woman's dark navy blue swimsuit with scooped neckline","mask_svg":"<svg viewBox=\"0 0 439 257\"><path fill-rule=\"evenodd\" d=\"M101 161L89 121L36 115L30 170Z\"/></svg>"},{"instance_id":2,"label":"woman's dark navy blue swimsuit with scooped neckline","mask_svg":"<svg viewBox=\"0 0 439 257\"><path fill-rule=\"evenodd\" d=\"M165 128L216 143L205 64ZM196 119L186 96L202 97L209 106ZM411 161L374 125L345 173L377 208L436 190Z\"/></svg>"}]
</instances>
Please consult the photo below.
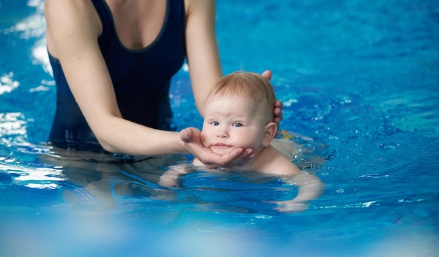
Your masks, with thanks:
<instances>
[{"instance_id":1,"label":"woman's dark navy blue swimsuit with scooped neckline","mask_svg":"<svg viewBox=\"0 0 439 257\"><path fill-rule=\"evenodd\" d=\"M167 1L161 32L151 45L142 50L129 50L122 46L109 7L104 0L92 1L103 27L98 39L100 50L112 77L123 118L148 127L170 130L170 118L173 116L168 93L170 78L182 67L185 57L184 0ZM102 151L74 100L60 61L51 55L49 57L58 90L49 144L74 150Z\"/></svg>"}]
</instances>

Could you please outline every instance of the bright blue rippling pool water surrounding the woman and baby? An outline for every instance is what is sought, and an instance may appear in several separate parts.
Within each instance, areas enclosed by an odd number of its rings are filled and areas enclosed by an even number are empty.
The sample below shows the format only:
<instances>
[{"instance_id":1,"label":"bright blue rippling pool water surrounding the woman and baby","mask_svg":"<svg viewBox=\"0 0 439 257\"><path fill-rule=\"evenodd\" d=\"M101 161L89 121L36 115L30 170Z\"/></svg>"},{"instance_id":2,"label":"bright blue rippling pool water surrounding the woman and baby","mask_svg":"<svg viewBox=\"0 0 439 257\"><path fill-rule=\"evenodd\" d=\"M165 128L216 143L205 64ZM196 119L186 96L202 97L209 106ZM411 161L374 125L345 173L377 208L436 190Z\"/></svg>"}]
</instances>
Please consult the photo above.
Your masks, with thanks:
<instances>
[{"instance_id":1,"label":"bright blue rippling pool water surrounding the woman and baby","mask_svg":"<svg viewBox=\"0 0 439 257\"><path fill-rule=\"evenodd\" d=\"M158 176L185 156L50 155L42 5L0 0L0 256L436 256L437 1L217 1L224 74L273 71L292 161L327 185L295 214L273 210L297 193L274 177L170 190ZM170 93L177 129L201 125L185 69Z\"/></svg>"}]
</instances>

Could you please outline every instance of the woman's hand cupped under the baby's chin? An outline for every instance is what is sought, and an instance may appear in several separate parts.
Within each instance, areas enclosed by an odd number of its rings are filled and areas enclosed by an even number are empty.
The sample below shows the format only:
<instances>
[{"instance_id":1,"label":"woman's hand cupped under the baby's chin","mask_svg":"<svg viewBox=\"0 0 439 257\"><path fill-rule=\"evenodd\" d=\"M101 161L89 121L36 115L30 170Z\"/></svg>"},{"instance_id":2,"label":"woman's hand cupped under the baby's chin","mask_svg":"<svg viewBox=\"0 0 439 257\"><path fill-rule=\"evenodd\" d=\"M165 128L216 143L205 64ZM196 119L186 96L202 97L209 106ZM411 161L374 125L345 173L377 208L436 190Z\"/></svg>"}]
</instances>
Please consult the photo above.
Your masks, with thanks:
<instances>
[{"instance_id":1,"label":"woman's hand cupped under the baby's chin","mask_svg":"<svg viewBox=\"0 0 439 257\"><path fill-rule=\"evenodd\" d=\"M244 165L255 157L252 148L234 148L229 153L220 155L201 143L201 131L195 127L188 127L180 132L180 139L188 150L208 169L217 167L234 167Z\"/></svg>"}]
</instances>

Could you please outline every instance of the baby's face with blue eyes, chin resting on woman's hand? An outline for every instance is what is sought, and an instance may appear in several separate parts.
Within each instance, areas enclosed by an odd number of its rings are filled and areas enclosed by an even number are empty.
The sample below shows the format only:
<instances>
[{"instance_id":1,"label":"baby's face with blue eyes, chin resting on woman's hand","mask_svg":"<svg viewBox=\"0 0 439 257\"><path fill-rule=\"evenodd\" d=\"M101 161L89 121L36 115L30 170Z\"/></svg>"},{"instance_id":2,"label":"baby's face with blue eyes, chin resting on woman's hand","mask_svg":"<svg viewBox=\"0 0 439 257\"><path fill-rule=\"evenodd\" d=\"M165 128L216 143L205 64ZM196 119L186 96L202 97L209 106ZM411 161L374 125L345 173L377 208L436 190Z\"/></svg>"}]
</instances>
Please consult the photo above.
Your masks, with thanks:
<instances>
[{"instance_id":1,"label":"baby's face with blue eyes, chin resting on woman's hand","mask_svg":"<svg viewBox=\"0 0 439 257\"><path fill-rule=\"evenodd\" d=\"M231 147L259 149L264 125L257 103L224 97L207 104L201 141L213 152L223 154Z\"/></svg>"}]
</instances>

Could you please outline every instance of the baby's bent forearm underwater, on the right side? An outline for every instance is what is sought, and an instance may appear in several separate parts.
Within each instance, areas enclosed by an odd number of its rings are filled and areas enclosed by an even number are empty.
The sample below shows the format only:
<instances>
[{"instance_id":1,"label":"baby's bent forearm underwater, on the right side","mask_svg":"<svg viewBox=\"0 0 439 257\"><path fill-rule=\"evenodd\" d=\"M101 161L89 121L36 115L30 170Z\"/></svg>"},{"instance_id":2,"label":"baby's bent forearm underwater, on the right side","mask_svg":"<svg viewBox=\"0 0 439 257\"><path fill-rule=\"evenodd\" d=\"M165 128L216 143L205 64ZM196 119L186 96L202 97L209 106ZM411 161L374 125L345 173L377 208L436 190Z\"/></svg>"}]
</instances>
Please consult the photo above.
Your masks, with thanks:
<instances>
[{"instance_id":1,"label":"baby's bent forearm underwater, on the right side","mask_svg":"<svg viewBox=\"0 0 439 257\"><path fill-rule=\"evenodd\" d=\"M292 200L279 201L276 209L281 212L296 212L308 209L308 202L316 200L323 195L325 183L318 176L302 172L292 176L284 176L283 181L287 184L298 186L299 193Z\"/></svg>"}]
</instances>

